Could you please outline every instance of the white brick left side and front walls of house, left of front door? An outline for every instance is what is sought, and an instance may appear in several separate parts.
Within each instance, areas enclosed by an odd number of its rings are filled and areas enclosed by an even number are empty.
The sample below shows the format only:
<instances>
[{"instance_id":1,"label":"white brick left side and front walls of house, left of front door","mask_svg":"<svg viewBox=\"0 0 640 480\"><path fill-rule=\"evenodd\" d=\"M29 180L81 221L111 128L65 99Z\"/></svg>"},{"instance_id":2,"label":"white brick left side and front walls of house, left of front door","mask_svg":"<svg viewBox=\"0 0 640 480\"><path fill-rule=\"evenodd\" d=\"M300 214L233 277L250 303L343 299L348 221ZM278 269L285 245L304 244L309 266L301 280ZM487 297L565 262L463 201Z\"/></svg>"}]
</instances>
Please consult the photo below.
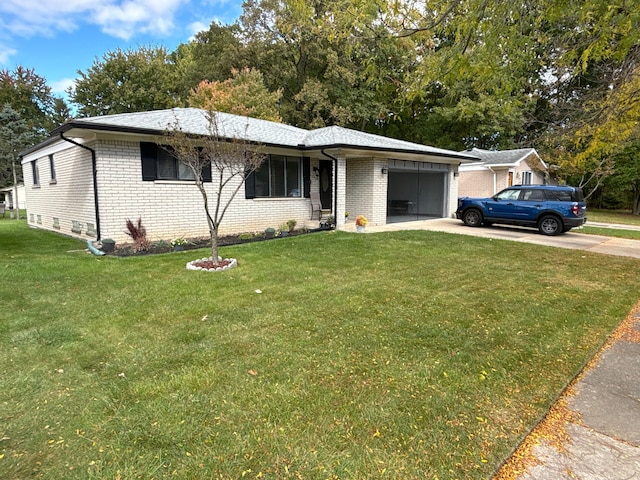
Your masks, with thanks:
<instances>
[{"instance_id":1,"label":"white brick left side and front walls of house, left of front door","mask_svg":"<svg viewBox=\"0 0 640 480\"><path fill-rule=\"evenodd\" d=\"M27 188L27 219L31 226L81 239L95 239L91 152L66 142L54 153L57 182L50 184L49 157L38 157L40 185L33 185L30 162L23 165ZM67 147L68 145L68 147ZM100 140L87 144L96 151L98 203L102 238L131 241L124 232L126 220L142 219L150 240L208 236L209 230L200 191L193 183L142 180L140 144L137 141ZM239 180L226 187L222 204ZM316 185L317 188L317 185ZM209 207L216 201L216 183L206 185ZM278 228L290 219L297 228L317 227L310 221L306 198L245 199L240 187L225 212L220 234Z\"/></svg>"}]
</instances>

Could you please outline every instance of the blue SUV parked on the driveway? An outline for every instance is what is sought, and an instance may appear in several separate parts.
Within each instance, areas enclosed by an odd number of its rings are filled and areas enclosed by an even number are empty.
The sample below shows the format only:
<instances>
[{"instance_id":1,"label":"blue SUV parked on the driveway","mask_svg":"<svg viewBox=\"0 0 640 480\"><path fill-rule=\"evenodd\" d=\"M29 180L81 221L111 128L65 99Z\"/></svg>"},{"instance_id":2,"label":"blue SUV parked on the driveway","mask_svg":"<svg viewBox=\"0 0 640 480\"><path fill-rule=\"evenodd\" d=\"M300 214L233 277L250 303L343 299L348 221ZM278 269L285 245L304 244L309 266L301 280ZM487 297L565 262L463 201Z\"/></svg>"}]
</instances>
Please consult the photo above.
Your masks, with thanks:
<instances>
[{"instance_id":1,"label":"blue SUV parked on the driveway","mask_svg":"<svg viewBox=\"0 0 640 480\"><path fill-rule=\"evenodd\" d=\"M469 227L493 223L536 227L559 235L587 221L582 190L551 185L518 185L489 198L458 199L456 216Z\"/></svg>"}]
</instances>

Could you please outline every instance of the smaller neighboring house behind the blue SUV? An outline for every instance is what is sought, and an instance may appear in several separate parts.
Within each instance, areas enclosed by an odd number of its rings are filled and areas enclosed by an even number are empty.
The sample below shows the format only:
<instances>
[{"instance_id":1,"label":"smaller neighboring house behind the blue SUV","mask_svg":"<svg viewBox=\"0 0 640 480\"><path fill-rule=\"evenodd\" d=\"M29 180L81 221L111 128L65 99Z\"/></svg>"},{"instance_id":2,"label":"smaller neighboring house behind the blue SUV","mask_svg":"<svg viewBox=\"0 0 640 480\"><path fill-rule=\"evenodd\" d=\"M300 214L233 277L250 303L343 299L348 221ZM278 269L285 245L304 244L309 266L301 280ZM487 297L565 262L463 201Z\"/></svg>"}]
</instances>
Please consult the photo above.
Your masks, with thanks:
<instances>
[{"instance_id":1,"label":"smaller neighboring house behind the blue SUV","mask_svg":"<svg viewBox=\"0 0 640 480\"><path fill-rule=\"evenodd\" d=\"M473 148L463 153L480 161L460 166L461 197L490 197L511 185L548 183L548 166L533 148L502 151Z\"/></svg>"}]
</instances>

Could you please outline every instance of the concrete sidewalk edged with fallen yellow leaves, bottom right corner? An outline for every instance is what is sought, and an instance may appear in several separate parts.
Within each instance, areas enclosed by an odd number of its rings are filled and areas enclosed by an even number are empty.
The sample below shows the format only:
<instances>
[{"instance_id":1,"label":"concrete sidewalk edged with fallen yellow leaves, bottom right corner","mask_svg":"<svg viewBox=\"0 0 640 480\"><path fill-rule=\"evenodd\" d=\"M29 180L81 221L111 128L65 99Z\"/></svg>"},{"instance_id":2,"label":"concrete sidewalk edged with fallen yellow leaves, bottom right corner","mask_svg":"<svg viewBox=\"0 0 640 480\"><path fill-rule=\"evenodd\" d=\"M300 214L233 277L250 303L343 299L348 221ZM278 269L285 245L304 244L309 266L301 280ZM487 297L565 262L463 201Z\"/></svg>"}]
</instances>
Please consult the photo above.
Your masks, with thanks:
<instances>
[{"instance_id":1,"label":"concrete sidewalk edged with fallen yellow leaves, bottom right corner","mask_svg":"<svg viewBox=\"0 0 640 480\"><path fill-rule=\"evenodd\" d=\"M556 405L564 420L545 419L496 479L640 479L640 315L632 314ZM545 422L551 423L546 425ZM514 465L513 461L516 462ZM523 465L528 468L523 468ZM519 473L517 473L519 472Z\"/></svg>"}]
</instances>

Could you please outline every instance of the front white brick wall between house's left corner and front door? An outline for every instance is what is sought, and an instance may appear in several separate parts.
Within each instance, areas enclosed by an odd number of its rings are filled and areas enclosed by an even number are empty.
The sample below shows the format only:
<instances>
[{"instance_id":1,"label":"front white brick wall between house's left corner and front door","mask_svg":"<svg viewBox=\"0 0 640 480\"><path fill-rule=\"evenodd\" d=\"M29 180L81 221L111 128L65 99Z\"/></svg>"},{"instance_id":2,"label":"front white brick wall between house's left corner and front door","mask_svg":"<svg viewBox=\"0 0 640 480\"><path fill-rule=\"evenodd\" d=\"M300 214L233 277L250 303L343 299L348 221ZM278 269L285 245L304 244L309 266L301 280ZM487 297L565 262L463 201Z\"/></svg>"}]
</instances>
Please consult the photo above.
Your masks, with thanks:
<instances>
[{"instance_id":1,"label":"front white brick wall between house's left corner and front door","mask_svg":"<svg viewBox=\"0 0 640 480\"><path fill-rule=\"evenodd\" d=\"M204 202L195 184L177 181L143 181L138 142L102 141L98 151L98 180L102 236L127 241L126 219L142 219L151 240L208 236ZM215 209L217 182L206 184L209 209ZM240 180L223 190L221 206L231 198ZM309 219L311 205L306 198L245 199L244 186L231 202L220 225L220 234L278 228L287 220L297 228L317 226Z\"/></svg>"}]
</instances>

